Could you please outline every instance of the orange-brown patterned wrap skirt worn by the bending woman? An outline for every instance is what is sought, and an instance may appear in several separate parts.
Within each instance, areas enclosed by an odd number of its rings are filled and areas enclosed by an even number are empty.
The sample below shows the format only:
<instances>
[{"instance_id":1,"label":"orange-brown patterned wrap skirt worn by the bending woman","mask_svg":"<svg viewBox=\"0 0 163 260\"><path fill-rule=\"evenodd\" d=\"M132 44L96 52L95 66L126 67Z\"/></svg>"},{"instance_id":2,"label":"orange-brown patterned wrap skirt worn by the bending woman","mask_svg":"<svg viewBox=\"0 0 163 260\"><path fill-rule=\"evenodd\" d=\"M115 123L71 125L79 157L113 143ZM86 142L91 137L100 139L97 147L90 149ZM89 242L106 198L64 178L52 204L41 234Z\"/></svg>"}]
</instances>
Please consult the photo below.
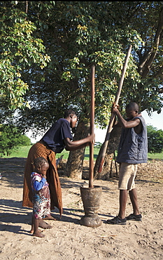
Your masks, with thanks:
<instances>
[{"instance_id":1,"label":"orange-brown patterned wrap skirt worn by the bending woman","mask_svg":"<svg viewBox=\"0 0 163 260\"><path fill-rule=\"evenodd\" d=\"M62 216L62 189L59 181L59 175L57 172L57 166L55 161L55 152L50 150L43 141L39 141L31 146L27 157L27 162L24 169L24 187L22 206L31 207L32 204L32 191L31 191L31 172L34 171L33 162L37 157L44 157L48 160L49 169L47 171L47 181L50 189L50 209L57 207L59 209L60 217Z\"/></svg>"}]
</instances>

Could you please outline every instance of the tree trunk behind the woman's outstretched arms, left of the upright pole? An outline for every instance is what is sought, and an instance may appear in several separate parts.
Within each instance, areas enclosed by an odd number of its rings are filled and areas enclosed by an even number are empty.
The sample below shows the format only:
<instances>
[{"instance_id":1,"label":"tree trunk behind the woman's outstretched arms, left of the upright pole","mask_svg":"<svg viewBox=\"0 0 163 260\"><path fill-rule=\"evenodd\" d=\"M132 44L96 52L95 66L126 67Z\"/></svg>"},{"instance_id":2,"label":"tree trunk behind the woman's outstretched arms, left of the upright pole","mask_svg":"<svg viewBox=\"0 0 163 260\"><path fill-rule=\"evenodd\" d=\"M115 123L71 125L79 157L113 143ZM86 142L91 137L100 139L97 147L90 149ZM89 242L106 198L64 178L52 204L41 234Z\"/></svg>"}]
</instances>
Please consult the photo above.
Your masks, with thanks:
<instances>
[{"instance_id":1,"label":"tree trunk behind the woman's outstretched arms, left of the upright pole","mask_svg":"<svg viewBox=\"0 0 163 260\"><path fill-rule=\"evenodd\" d=\"M90 126L86 126L83 122L78 123L74 141L87 137L90 133ZM82 179L83 160L85 157L85 148L69 152L69 158L66 162L66 176L70 178Z\"/></svg>"}]
</instances>

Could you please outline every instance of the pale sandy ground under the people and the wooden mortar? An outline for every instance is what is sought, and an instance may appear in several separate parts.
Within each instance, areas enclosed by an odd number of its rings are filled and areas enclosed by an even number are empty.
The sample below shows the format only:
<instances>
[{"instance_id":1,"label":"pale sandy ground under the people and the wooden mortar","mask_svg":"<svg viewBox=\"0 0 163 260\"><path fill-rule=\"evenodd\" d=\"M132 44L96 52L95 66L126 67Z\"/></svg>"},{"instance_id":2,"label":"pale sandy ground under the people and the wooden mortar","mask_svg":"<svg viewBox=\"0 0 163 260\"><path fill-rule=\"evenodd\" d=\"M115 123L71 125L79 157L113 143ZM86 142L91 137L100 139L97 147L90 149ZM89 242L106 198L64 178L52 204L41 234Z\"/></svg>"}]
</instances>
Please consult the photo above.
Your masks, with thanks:
<instances>
[{"instance_id":1,"label":"pale sandy ground under the people and the wooden mortar","mask_svg":"<svg viewBox=\"0 0 163 260\"><path fill-rule=\"evenodd\" d=\"M94 181L100 186L99 218L101 226L82 226L84 216L80 186L76 181L60 176L64 213L59 221L47 221L52 229L43 230L45 238L29 233L31 209L22 207L23 170L25 158L0 158L0 259L163 259L163 162L139 169L136 188L142 221L127 221L127 225L109 225L107 219L118 214L118 178ZM132 213L127 201L126 215ZM52 211L59 216L58 210Z\"/></svg>"}]
</instances>

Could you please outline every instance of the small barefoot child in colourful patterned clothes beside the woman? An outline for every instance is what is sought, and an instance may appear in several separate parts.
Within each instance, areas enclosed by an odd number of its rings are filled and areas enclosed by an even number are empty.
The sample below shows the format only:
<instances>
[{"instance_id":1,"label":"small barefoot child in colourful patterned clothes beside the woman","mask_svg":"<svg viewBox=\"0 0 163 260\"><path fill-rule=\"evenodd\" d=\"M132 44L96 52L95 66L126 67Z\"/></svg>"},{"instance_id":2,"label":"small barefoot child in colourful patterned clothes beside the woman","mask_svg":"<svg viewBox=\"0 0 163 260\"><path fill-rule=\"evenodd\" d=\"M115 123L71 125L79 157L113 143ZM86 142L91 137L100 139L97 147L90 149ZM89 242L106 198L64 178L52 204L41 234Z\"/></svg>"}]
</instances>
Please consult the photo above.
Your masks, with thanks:
<instances>
[{"instance_id":1,"label":"small barefoot child in colourful patterned clothes beside the woman","mask_svg":"<svg viewBox=\"0 0 163 260\"><path fill-rule=\"evenodd\" d=\"M50 216L50 190L46 181L46 172L49 168L48 161L43 157L34 160L34 172L31 173L31 189L33 193L33 214L31 231L34 236L44 238L38 230L39 221Z\"/></svg>"}]
</instances>

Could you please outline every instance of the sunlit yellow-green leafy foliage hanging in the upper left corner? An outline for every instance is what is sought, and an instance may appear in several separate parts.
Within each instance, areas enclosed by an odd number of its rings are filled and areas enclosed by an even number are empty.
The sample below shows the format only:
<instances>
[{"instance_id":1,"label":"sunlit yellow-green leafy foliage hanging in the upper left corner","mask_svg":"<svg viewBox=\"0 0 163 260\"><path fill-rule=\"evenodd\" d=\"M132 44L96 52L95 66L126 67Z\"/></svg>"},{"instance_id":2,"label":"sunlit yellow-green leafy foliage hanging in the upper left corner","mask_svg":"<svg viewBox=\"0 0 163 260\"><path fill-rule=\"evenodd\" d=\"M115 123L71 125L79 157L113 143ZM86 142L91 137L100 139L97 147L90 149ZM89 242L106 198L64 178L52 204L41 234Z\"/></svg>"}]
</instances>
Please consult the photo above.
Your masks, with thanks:
<instances>
[{"instance_id":1,"label":"sunlit yellow-green leafy foliage hanging in the upper left corner","mask_svg":"<svg viewBox=\"0 0 163 260\"><path fill-rule=\"evenodd\" d=\"M36 25L27 19L27 12L17 8L16 1L0 2L1 56L0 56L0 109L14 111L30 108L24 100L29 86L22 78L24 70L30 74L32 64L43 69L50 60L45 46L36 38Z\"/></svg>"}]
</instances>

